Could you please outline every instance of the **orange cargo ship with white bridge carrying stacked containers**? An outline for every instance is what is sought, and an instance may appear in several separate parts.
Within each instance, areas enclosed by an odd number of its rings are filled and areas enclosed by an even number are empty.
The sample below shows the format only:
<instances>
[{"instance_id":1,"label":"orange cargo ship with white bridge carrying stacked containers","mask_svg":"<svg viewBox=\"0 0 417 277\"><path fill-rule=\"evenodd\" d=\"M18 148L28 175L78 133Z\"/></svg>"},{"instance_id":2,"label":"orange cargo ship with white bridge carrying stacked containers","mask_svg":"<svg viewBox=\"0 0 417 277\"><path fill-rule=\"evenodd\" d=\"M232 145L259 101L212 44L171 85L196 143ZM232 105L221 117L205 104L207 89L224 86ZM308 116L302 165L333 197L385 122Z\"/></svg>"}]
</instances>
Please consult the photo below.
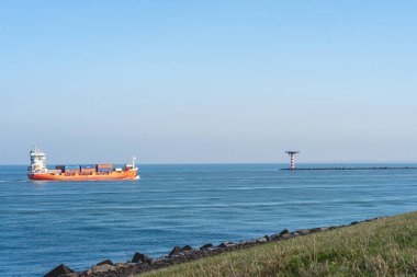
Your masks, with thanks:
<instances>
[{"instance_id":1,"label":"orange cargo ship with white bridge carrying stacked containers","mask_svg":"<svg viewBox=\"0 0 417 277\"><path fill-rule=\"evenodd\" d=\"M27 177L34 181L106 181L106 180L137 180L135 158L132 164L114 168L113 164L81 164L56 165L46 168L46 155L37 148L31 151L31 166Z\"/></svg>"}]
</instances>

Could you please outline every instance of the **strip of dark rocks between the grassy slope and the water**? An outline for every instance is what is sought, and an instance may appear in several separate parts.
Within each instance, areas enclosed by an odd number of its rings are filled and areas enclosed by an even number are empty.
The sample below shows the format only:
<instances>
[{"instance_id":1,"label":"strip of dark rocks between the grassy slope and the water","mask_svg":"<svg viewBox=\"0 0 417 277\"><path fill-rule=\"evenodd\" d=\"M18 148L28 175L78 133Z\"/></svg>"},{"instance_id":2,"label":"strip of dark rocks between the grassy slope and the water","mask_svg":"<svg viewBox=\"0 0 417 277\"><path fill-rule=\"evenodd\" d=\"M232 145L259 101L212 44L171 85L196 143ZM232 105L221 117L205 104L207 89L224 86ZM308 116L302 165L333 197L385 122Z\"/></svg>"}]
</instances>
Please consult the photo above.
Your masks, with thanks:
<instances>
[{"instance_id":1,"label":"strip of dark rocks between the grassy slope and the water","mask_svg":"<svg viewBox=\"0 0 417 277\"><path fill-rule=\"evenodd\" d=\"M296 238L300 235L308 235L317 232L324 232L327 230L334 230L338 228L343 228L348 226L353 226L362 222L375 221L379 218L367 219L363 221L353 221L350 224L345 226L333 226L333 227L322 227L322 228L312 228L312 229L302 229L296 231L283 230L280 233L264 235L257 240L249 240L243 242L223 242L217 246L214 246L211 243L207 243L201 247L193 249L190 245L185 246L174 246L172 251L165 256L158 258L151 258L136 252L132 261L127 263L113 263L110 259L102 261L90 269L84 272L74 272L69 267L65 265L59 265L47 273L44 277L128 277L132 275L150 272L155 269L160 269L164 267L188 263L192 261L196 261L203 257L218 255L221 253L248 249L256 245L261 245L266 243L271 243L281 240L289 240L292 238Z\"/></svg>"}]
</instances>

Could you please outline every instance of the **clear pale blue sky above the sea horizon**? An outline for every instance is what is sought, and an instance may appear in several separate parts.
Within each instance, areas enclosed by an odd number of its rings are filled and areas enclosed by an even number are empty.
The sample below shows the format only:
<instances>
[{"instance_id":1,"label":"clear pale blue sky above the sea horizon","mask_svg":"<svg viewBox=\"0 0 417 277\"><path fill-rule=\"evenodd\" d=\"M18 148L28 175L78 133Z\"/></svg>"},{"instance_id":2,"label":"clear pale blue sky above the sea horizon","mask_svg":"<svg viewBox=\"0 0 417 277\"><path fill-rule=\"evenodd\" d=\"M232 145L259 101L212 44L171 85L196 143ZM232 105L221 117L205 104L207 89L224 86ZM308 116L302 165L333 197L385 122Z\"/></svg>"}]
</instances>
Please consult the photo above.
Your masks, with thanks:
<instances>
[{"instance_id":1,"label":"clear pale blue sky above the sea horizon","mask_svg":"<svg viewBox=\"0 0 417 277\"><path fill-rule=\"evenodd\" d=\"M2 0L0 163L417 161L416 11Z\"/></svg>"}]
</instances>

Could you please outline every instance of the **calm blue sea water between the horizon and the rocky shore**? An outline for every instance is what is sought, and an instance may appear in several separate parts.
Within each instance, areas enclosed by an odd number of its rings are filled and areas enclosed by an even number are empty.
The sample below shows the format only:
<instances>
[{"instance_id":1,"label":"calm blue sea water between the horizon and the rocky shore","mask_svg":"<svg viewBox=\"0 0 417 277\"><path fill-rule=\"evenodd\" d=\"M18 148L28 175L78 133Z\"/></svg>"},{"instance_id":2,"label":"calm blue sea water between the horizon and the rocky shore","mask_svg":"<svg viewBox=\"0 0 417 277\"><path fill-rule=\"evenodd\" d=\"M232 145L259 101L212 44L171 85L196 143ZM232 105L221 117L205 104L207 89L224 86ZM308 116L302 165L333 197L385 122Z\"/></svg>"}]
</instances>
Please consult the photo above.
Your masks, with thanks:
<instances>
[{"instance_id":1,"label":"calm blue sea water between the horizon and the rocky shore","mask_svg":"<svg viewBox=\"0 0 417 277\"><path fill-rule=\"evenodd\" d=\"M135 251L159 256L174 245L256 239L417 208L417 170L284 166L143 165L139 181L81 183L31 182L26 166L0 166L0 276L43 276L61 263L81 270L104 258L125 262Z\"/></svg>"}]
</instances>

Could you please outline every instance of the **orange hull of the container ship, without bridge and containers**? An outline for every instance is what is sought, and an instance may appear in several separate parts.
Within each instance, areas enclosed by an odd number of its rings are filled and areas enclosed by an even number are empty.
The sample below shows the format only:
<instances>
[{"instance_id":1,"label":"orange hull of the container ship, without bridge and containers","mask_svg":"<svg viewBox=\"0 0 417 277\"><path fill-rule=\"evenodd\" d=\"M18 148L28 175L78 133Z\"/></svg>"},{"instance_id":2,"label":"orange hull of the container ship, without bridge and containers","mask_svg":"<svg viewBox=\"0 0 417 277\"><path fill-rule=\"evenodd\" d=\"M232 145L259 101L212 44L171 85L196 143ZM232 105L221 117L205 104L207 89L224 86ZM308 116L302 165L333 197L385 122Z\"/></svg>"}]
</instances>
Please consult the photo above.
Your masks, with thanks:
<instances>
[{"instance_id":1,"label":"orange hull of the container ship, without bridge and containers","mask_svg":"<svg viewBox=\"0 0 417 277\"><path fill-rule=\"evenodd\" d=\"M111 181L111 180L136 180L137 169L109 173L92 173L91 175L81 174L54 174L54 173L34 173L27 174L30 180L34 181Z\"/></svg>"}]
</instances>

